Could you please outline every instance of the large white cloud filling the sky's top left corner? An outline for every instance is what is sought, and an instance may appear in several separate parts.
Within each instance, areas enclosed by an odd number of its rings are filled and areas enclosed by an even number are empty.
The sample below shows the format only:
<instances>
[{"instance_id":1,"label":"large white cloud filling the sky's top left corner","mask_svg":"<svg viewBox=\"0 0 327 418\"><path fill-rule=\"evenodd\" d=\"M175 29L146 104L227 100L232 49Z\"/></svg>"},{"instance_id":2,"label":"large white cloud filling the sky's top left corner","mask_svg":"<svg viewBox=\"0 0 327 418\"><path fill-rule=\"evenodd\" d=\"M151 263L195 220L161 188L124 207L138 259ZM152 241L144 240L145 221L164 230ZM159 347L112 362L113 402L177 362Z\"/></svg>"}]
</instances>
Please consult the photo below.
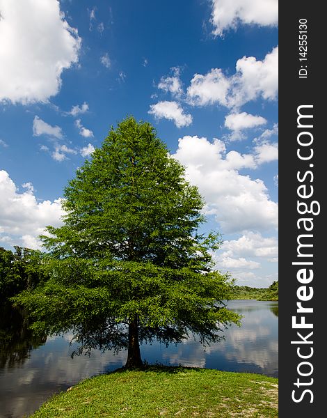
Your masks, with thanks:
<instances>
[{"instance_id":1,"label":"large white cloud filling the sky's top left corner","mask_svg":"<svg viewBox=\"0 0 327 418\"><path fill-rule=\"evenodd\" d=\"M77 30L57 0L0 0L0 10L0 100L47 102L78 61Z\"/></svg>"}]
</instances>

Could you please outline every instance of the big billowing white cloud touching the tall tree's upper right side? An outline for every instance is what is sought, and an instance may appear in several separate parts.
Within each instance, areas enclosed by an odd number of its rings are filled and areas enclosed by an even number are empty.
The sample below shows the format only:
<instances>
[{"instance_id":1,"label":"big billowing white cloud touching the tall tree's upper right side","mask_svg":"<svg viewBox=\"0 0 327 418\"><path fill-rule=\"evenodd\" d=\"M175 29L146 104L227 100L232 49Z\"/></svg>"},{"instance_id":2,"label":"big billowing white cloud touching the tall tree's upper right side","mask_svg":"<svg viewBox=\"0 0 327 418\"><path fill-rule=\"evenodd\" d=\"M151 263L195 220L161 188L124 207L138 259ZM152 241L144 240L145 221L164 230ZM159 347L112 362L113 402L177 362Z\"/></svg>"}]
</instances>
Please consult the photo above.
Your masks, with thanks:
<instances>
[{"instance_id":1,"label":"big billowing white cloud touching the tall tree's upper right side","mask_svg":"<svg viewBox=\"0 0 327 418\"><path fill-rule=\"evenodd\" d=\"M204 196L207 214L216 215L224 233L278 226L278 205L271 201L264 182L238 171L257 167L253 155L225 154L222 141L183 137L173 157L186 167L186 177Z\"/></svg>"}]
</instances>

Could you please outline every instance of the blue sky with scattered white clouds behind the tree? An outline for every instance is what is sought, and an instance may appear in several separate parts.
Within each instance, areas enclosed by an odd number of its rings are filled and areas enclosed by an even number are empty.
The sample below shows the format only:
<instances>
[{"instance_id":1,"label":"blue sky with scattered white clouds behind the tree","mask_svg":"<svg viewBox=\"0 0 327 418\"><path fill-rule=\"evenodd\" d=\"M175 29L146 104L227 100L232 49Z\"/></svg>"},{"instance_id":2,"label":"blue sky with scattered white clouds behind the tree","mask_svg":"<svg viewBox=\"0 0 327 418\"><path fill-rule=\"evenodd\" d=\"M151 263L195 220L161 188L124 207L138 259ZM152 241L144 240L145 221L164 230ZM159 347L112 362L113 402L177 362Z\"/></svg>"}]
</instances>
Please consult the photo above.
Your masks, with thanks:
<instances>
[{"instance_id":1,"label":"blue sky with scattered white clouds behind the tree","mask_svg":"<svg viewBox=\"0 0 327 418\"><path fill-rule=\"evenodd\" d=\"M0 246L39 247L127 115L198 185L218 270L276 280L278 1L0 0Z\"/></svg>"}]
</instances>

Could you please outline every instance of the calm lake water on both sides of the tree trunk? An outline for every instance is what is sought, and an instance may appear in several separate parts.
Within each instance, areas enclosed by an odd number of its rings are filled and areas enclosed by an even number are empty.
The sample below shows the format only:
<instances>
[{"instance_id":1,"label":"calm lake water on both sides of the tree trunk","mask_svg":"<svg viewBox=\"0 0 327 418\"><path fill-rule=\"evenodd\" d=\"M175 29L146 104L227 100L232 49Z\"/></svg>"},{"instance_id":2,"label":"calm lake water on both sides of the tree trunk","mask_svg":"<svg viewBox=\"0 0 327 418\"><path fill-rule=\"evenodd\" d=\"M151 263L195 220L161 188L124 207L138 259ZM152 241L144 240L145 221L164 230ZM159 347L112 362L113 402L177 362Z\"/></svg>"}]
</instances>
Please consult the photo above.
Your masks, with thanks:
<instances>
[{"instance_id":1,"label":"calm lake water on both sides of the tree trunk","mask_svg":"<svg viewBox=\"0 0 327 418\"><path fill-rule=\"evenodd\" d=\"M225 340L205 348L193 338L168 346L141 346L148 363L182 364L223 371L262 373L278 377L278 302L232 300L228 308L244 316L241 327L230 327ZM90 357L70 357L70 335L35 339L14 313L0 320L0 417L22 418L51 396L79 380L125 364L127 353L94 351ZM15 323L17 325L15 326ZM10 341L4 335L10 336Z\"/></svg>"}]
</instances>

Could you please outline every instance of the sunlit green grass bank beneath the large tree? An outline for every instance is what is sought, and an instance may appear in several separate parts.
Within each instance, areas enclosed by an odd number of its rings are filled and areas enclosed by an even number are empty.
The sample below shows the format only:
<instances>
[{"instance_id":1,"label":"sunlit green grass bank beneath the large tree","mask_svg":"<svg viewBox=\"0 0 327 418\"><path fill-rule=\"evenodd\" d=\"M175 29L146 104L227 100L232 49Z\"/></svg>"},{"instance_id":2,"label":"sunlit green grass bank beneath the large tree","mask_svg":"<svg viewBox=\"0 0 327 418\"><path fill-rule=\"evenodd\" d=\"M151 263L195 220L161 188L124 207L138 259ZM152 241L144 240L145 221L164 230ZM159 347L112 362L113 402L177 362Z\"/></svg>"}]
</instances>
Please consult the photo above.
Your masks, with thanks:
<instances>
[{"instance_id":1,"label":"sunlit green grass bank beneath the large tree","mask_svg":"<svg viewBox=\"0 0 327 418\"><path fill-rule=\"evenodd\" d=\"M278 379L185 367L120 369L53 396L31 417L278 417Z\"/></svg>"}]
</instances>

